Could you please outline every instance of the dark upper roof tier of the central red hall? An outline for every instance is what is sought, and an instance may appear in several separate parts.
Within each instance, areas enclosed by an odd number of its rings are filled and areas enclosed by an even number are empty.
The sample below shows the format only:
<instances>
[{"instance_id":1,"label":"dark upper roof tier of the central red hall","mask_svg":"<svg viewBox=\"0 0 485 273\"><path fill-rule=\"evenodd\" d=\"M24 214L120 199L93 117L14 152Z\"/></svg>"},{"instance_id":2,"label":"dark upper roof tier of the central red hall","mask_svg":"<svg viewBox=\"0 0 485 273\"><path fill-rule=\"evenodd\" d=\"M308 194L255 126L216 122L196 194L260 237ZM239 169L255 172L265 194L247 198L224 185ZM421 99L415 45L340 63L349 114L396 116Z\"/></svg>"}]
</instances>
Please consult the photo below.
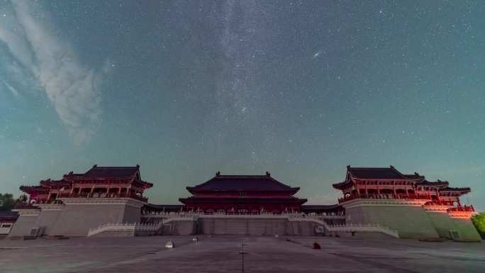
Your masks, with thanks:
<instances>
[{"instance_id":1,"label":"dark upper roof tier of the central red hall","mask_svg":"<svg viewBox=\"0 0 485 273\"><path fill-rule=\"evenodd\" d=\"M208 182L188 186L189 191L298 191L267 175L216 175Z\"/></svg>"}]
</instances>

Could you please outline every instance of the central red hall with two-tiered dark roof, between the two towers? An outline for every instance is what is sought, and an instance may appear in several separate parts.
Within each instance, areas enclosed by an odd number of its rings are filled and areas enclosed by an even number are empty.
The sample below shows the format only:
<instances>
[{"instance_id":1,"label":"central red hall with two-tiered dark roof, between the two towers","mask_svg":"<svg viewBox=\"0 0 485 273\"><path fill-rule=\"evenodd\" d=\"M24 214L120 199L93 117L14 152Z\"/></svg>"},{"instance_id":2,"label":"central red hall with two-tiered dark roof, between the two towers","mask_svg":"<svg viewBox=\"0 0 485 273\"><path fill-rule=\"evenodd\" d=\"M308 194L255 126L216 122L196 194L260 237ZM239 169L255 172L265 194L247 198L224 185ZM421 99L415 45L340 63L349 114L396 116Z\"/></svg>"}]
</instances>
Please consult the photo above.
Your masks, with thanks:
<instances>
[{"instance_id":1,"label":"central red hall with two-tiered dark roof, between the two towers","mask_svg":"<svg viewBox=\"0 0 485 273\"><path fill-rule=\"evenodd\" d=\"M291 187L266 175L221 175L197 186L187 186L193 194L179 199L186 211L205 213L283 213L300 211L306 199L293 195L299 187Z\"/></svg>"}]
</instances>

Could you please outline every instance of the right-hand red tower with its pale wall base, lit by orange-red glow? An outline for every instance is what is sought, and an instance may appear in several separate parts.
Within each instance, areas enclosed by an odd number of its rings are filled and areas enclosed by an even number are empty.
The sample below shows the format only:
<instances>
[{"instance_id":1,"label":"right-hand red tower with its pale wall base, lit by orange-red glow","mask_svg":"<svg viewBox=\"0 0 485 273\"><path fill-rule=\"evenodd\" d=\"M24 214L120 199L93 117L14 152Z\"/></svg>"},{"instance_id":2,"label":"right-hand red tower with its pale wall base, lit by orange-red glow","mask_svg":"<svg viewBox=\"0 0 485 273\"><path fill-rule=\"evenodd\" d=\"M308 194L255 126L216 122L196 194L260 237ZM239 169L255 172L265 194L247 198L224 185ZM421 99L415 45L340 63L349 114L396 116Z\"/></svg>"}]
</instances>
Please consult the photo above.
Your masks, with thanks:
<instances>
[{"instance_id":1,"label":"right-hand red tower with its pale wall base, lit by orange-red glow","mask_svg":"<svg viewBox=\"0 0 485 273\"><path fill-rule=\"evenodd\" d=\"M469 188L428 182L417 174L389 168L347 166L345 181L333 184L344 196L347 224L381 224L398 230L400 238L477 239L470 217L473 206L460 203Z\"/></svg>"}]
</instances>

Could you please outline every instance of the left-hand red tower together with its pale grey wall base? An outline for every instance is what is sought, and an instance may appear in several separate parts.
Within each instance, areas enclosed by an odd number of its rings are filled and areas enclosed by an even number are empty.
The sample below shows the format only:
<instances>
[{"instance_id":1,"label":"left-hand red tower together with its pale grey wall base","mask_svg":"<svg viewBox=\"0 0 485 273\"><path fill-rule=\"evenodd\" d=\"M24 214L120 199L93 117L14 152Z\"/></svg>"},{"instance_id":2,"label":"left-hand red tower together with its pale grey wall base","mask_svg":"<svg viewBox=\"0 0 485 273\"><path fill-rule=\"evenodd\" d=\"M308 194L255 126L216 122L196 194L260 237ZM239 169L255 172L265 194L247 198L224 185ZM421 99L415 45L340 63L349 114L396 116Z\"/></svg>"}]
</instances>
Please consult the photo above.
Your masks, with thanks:
<instances>
[{"instance_id":1,"label":"left-hand red tower together with its pale grey wall base","mask_svg":"<svg viewBox=\"0 0 485 273\"><path fill-rule=\"evenodd\" d=\"M60 180L21 186L29 201L16 207L19 218L9 235L85 236L106 223L138 223L147 204L143 191L152 186L141 179L138 165L94 165L84 174L69 172Z\"/></svg>"}]
</instances>

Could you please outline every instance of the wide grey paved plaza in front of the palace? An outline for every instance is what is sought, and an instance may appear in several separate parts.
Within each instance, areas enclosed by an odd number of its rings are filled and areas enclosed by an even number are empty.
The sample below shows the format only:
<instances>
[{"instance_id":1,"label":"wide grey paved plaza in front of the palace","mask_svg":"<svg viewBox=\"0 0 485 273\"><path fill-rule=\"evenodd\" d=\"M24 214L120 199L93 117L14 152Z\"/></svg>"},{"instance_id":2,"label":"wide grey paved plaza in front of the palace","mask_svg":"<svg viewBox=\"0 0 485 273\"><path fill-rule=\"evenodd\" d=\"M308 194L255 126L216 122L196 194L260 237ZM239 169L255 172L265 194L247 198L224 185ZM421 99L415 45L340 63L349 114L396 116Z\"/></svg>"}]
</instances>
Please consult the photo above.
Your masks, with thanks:
<instances>
[{"instance_id":1,"label":"wide grey paved plaza in front of the palace","mask_svg":"<svg viewBox=\"0 0 485 273\"><path fill-rule=\"evenodd\" d=\"M172 240L175 248L165 248ZM313 250L317 242L321 250ZM0 272L484 272L485 244L157 236L0 240Z\"/></svg>"}]
</instances>

